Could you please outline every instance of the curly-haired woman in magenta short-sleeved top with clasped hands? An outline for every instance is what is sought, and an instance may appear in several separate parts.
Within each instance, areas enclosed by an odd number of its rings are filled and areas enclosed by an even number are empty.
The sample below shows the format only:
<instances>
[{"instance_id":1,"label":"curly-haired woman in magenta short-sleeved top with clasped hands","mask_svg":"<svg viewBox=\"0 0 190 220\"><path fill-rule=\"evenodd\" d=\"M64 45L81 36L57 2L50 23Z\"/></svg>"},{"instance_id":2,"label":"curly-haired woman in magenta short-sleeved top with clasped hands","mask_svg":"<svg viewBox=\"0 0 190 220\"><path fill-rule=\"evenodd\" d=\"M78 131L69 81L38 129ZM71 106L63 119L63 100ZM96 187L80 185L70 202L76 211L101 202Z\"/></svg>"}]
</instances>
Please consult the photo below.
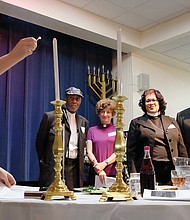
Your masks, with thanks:
<instances>
[{"instance_id":1,"label":"curly-haired woman in magenta short-sleeved top with clasped hands","mask_svg":"<svg viewBox=\"0 0 190 220\"><path fill-rule=\"evenodd\" d=\"M87 154L93 173L90 175L90 177L93 176L90 184L94 184L95 175L99 175L103 184L105 184L106 176L116 175L114 153L116 128L111 122L115 109L116 103L111 99L102 99L96 104L100 124L90 127L87 134Z\"/></svg>"}]
</instances>

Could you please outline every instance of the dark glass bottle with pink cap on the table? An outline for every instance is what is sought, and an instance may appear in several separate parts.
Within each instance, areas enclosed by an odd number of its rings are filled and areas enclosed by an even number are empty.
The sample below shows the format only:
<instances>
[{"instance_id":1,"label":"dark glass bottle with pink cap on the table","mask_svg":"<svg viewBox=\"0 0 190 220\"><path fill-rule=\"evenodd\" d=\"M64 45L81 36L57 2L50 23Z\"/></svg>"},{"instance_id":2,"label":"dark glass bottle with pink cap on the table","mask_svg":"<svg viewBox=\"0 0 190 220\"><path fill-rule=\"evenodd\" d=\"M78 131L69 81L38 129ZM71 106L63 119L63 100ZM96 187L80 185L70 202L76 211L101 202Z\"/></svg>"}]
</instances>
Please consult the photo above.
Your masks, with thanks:
<instances>
[{"instance_id":1,"label":"dark glass bottle with pink cap on the table","mask_svg":"<svg viewBox=\"0 0 190 220\"><path fill-rule=\"evenodd\" d=\"M144 189L155 189L155 171L150 157L150 147L144 147L144 158L140 169L140 186L141 196L143 197Z\"/></svg>"}]
</instances>

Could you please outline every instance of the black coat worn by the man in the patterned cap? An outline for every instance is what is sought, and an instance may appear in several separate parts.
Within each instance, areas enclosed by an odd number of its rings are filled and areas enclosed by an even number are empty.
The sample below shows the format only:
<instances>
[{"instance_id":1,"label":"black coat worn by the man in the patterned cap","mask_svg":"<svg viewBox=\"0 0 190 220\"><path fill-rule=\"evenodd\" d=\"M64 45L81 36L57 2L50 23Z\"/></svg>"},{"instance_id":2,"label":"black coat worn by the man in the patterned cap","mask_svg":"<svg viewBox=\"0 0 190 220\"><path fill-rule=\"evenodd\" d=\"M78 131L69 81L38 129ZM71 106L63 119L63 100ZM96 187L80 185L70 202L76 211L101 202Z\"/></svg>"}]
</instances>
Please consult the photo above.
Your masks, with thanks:
<instances>
[{"instance_id":1,"label":"black coat worn by the man in the patterned cap","mask_svg":"<svg viewBox=\"0 0 190 220\"><path fill-rule=\"evenodd\" d=\"M63 110L65 112L65 110ZM78 130L78 169L79 169L79 186L83 186L84 178L84 148L86 146L86 135L88 131L88 121L79 114L76 114L77 130ZM39 185L49 186L54 180L54 157L52 152L54 142L54 112L45 112L36 138L36 151L39 159L40 176ZM69 146L71 135L70 126L66 114L63 113L62 123L65 123L65 145L64 152ZM69 187L69 186L68 186Z\"/></svg>"}]
</instances>

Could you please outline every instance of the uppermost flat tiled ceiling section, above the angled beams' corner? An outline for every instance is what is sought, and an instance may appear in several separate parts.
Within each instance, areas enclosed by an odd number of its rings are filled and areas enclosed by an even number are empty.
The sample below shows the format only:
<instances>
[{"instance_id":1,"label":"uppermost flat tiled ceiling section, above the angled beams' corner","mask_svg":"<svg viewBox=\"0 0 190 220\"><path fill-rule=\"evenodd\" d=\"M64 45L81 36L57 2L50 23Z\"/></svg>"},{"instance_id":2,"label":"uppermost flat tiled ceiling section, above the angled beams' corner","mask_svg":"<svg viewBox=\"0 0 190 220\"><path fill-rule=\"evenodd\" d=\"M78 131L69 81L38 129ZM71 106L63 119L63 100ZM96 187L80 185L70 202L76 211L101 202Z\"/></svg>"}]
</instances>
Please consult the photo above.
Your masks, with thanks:
<instances>
[{"instance_id":1,"label":"uppermost flat tiled ceiling section, above the angled beams' corner","mask_svg":"<svg viewBox=\"0 0 190 220\"><path fill-rule=\"evenodd\" d=\"M189 0L61 1L138 31L144 31L190 11Z\"/></svg>"}]
</instances>

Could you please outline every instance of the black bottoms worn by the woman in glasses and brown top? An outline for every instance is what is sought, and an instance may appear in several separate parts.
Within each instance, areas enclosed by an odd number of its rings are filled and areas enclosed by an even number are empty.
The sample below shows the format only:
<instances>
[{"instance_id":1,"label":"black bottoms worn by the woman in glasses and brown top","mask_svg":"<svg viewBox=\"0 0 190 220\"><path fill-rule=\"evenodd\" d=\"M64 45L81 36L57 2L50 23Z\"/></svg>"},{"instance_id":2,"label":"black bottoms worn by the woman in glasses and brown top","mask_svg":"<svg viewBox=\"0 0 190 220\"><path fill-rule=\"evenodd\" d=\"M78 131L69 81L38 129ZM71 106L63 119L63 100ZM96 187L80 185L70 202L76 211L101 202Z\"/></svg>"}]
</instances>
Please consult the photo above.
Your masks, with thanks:
<instances>
[{"instance_id":1,"label":"black bottoms worn by the woman in glasses and brown top","mask_svg":"<svg viewBox=\"0 0 190 220\"><path fill-rule=\"evenodd\" d=\"M172 185L171 170L175 169L173 162L153 160L153 165L158 185Z\"/></svg>"}]
</instances>

